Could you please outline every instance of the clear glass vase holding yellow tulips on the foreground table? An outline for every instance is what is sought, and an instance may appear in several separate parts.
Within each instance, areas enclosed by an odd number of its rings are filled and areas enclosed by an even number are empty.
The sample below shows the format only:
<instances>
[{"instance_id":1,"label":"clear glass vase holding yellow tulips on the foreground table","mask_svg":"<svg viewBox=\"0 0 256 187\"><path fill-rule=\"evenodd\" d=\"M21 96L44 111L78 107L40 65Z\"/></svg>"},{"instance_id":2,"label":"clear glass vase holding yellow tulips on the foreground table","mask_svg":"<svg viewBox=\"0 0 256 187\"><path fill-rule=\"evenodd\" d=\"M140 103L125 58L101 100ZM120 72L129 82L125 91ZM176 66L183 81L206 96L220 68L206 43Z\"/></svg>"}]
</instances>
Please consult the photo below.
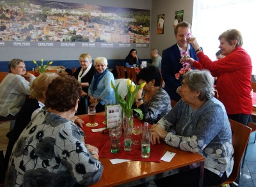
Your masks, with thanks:
<instances>
[{"instance_id":1,"label":"clear glass vase holding yellow tulips on the foreground table","mask_svg":"<svg viewBox=\"0 0 256 187\"><path fill-rule=\"evenodd\" d=\"M132 150L132 127L133 127L133 115L131 112L124 112L123 115L124 125L124 151Z\"/></svg>"}]
</instances>

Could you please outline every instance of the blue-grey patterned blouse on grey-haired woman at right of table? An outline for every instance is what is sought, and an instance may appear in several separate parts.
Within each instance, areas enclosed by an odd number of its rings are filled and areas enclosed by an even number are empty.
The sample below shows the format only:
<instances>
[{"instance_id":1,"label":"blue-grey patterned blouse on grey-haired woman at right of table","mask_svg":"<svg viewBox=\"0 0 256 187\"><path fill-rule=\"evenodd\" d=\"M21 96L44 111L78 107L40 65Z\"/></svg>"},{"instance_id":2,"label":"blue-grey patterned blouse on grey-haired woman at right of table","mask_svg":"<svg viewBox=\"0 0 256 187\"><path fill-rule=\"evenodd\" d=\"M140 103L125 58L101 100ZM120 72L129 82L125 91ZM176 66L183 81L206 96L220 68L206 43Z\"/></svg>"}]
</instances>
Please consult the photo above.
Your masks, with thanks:
<instances>
[{"instance_id":1,"label":"blue-grey patterned blouse on grey-haired woman at right of table","mask_svg":"<svg viewBox=\"0 0 256 187\"><path fill-rule=\"evenodd\" d=\"M193 109L180 100L158 121L168 131L166 144L205 156L205 168L230 176L234 165L232 133L224 105L211 98Z\"/></svg>"}]
</instances>

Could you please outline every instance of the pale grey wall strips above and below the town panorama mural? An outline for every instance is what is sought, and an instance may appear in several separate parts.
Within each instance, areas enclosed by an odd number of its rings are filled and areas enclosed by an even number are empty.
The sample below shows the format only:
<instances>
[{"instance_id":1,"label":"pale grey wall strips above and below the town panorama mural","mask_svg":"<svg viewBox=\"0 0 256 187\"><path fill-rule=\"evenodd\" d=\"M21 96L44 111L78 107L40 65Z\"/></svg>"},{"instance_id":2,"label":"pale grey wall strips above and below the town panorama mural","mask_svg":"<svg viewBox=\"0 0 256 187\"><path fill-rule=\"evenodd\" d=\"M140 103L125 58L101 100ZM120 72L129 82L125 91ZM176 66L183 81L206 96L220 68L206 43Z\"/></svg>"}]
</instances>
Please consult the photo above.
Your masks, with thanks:
<instances>
[{"instance_id":1,"label":"pale grey wall strips above and below the town panorama mural","mask_svg":"<svg viewBox=\"0 0 256 187\"><path fill-rule=\"evenodd\" d=\"M54 0L52 0L54 1ZM124 7L124 8L138 8L151 10L151 1L152 0L55 0L66 3L83 3L83 4L96 4L102 6L115 6L115 7ZM125 59L127 54L131 49L45 49L45 48L19 48L19 47L2 47L0 48L0 61L10 61L13 58L23 59L24 61L40 60L42 58L47 60L78 60L79 55L86 52L92 56L94 59L97 56L104 56L107 59ZM141 59L150 57L150 49L137 49L138 56Z\"/></svg>"}]
</instances>

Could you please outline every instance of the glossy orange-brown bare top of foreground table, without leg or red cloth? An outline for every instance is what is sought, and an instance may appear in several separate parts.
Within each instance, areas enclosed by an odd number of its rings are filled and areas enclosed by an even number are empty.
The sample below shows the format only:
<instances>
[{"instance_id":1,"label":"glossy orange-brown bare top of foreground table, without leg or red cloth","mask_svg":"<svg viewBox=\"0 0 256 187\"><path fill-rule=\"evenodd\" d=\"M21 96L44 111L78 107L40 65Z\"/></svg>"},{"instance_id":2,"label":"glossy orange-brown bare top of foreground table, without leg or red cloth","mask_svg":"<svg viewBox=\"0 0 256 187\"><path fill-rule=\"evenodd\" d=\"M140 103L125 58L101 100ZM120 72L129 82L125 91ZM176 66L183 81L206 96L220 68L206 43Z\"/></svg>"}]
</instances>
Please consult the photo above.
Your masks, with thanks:
<instances>
[{"instance_id":1,"label":"glossy orange-brown bare top of foreground table, without leg or red cloth","mask_svg":"<svg viewBox=\"0 0 256 187\"><path fill-rule=\"evenodd\" d=\"M104 112L97 114L102 115L104 114ZM84 119L84 117L86 117L86 114L79 117L81 119ZM86 126L85 128L90 127ZM86 138L86 143L90 144L90 140L88 138ZM157 174L162 174L173 169L186 167L194 163L200 163L205 160L204 156L198 153L190 153L188 151L182 151L166 144L164 145L165 146L163 154L166 153L166 151L176 153L170 162L161 161L160 163L157 163L149 161L127 161L124 163L118 163L113 165L109 161L110 158L99 158L104 167L104 171L102 177L100 178L100 181L98 183L92 184L91 186L116 186L124 183L129 183L134 180L143 179L145 177L156 176Z\"/></svg>"}]
</instances>

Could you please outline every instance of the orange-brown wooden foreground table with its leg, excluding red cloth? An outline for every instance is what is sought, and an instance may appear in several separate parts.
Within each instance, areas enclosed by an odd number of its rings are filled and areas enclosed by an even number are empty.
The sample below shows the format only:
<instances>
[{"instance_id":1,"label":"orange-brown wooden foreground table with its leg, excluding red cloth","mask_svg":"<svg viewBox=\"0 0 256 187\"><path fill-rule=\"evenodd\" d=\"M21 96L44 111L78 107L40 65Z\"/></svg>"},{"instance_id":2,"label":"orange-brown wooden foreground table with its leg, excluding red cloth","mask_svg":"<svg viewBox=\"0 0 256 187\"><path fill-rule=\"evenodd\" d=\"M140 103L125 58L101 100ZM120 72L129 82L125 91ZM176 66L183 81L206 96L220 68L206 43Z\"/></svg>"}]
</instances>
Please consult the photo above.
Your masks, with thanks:
<instances>
[{"instance_id":1,"label":"orange-brown wooden foreground table with its leg, excluding red cloth","mask_svg":"<svg viewBox=\"0 0 256 187\"><path fill-rule=\"evenodd\" d=\"M97 114L104 114L104 112ZM86 115L81 115L79 117L84 119ZM87 138L86 143L90 144L90 140ZM198 173L200 174L198 175L200 181L198 186L202 186L204 178L204 156L198 153L182 151L168 145L164 147L164 153L166 153L166 151L176 153L170 162L161 161L160 163L156 163L148 161L127 161L113 165L109 161L109 158L99 158L104 167L104 171L100 181L90 186L134 186L154 179L171 176L186 170L191 170L192 168L198 169ZM172 182L170 181L170 183Z\"/></svg>"}]
</instances>

